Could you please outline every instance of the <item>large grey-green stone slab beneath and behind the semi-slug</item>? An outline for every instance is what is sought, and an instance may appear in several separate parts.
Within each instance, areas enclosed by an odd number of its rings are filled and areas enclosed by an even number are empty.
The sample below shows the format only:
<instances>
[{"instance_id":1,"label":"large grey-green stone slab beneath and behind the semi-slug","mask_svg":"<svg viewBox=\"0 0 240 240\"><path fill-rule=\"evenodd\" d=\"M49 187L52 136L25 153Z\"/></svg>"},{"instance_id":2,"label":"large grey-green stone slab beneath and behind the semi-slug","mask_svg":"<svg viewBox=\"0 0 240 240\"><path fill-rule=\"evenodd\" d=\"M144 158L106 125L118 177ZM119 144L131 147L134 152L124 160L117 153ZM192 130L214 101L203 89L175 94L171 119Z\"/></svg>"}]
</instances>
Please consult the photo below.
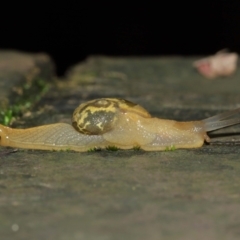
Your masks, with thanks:
<instances>
[{"instance_id":1,"label":"large grey-green stone slab beneath and behind the semi-slug","mask_svg":"<svg viewBox=\"0 0 240 240\"><path fill-rule=\"evenodd\" d=\"M70 122L77 105L121 97L153 115L203 119L239 107L239 71L206 80L196 58L93 57L15 126ZM199 149L87 153L0 148L3 239L239 239L240 128Z\"/></svg>"}]
</instances>

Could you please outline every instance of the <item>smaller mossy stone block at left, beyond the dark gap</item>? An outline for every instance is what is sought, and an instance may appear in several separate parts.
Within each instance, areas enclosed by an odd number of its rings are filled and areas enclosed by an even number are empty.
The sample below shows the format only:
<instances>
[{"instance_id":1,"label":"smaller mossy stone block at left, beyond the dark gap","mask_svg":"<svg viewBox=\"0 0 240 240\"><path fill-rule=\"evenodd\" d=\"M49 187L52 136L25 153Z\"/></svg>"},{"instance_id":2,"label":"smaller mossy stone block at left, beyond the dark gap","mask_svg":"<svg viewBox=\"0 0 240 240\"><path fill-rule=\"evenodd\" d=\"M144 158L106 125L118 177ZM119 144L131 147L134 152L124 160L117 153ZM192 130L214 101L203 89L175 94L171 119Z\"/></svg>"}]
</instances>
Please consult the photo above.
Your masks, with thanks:
<instances>
[{"instance_id":1,"label":"smaller mossy stone block at left, beyond the dark gap","mask_svg":"<svg viewBox=\"0 0 240 240\"><path fill-rule=\"evenodd\" d=\"M16 96L21 95L23 85L36 78L51 80L53 68L53 62L44 53L0 50L0 106L16 103Z\"/></svg>"}]
</instances>

